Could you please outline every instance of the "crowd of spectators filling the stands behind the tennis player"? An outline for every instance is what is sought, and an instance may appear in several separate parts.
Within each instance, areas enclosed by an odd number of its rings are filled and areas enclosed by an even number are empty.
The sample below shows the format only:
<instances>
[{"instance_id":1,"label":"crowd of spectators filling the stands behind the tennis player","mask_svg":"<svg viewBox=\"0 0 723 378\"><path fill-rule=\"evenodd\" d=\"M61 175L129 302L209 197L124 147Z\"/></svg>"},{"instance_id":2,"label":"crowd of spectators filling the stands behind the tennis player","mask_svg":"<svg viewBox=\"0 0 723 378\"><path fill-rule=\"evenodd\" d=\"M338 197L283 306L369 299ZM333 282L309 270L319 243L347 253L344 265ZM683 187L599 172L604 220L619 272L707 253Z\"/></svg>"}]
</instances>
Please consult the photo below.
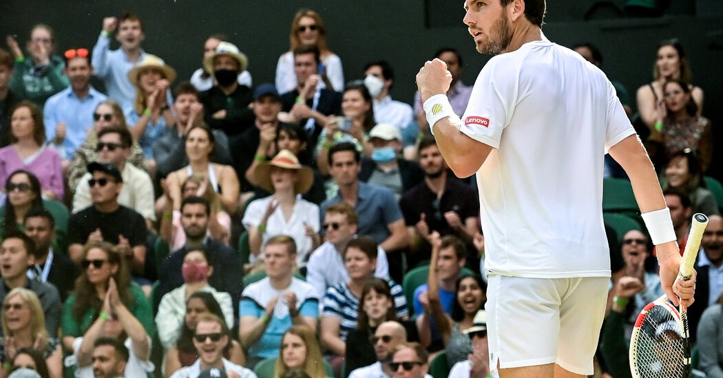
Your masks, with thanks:
<instances>
[{"instance_id":1,"label":"crowd of spectators filling the stands behind the tennis player","mask_svg":"<svg viewBox=\"0 0 723 378\"><path fill-rule=\"evenodd\" d=\"M101 26L93 48L61 56L42 24L25 50L0 49L0 377L424 377L435 360L450 377L490 374L484 183L448 170L419 94L392 99L388 62L345 80L322 18L301 9L274 84L253 85L226 35L186 81L143 50L139 17ZM574 49L602 64L594 45ZM461 116L462 56L435 57ZM723 203L703 91L676 40L636 106L615 87L681 247L691 215L710 216L689 316L699 369L723 377ZM624 177L611 160L605 172ZM630 328L662 291L645 232L609 239L597 359L628 377Z\"/></svg>"}]
</instances>

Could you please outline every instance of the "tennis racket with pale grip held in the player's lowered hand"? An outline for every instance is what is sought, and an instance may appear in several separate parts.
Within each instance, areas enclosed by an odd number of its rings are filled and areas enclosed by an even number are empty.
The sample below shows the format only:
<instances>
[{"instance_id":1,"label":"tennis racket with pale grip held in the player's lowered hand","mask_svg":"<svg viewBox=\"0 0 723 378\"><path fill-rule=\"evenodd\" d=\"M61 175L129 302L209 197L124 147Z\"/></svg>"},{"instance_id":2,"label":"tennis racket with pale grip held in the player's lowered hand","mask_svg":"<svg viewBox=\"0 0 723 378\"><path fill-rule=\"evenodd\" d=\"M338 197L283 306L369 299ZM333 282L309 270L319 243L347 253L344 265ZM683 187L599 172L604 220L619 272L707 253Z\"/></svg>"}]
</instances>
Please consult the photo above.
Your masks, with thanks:
<instances>
[{"instance_id":1,"label":"tennis racket with pale grip held in the player's lowered hand","mask_svg":"<svg viewBox=\"0 0 723 378\"><path fill-rule=\"evenodd\" d=\"M688 242L680 260L679 279L693 274L698 248L708 217L693 216ZM667 296L649 303L635 322L630 338L630 373L633 378L687 378L690 374L690 339L688 312L680 304L675 308Z\"/></svg>"}]
</instances>

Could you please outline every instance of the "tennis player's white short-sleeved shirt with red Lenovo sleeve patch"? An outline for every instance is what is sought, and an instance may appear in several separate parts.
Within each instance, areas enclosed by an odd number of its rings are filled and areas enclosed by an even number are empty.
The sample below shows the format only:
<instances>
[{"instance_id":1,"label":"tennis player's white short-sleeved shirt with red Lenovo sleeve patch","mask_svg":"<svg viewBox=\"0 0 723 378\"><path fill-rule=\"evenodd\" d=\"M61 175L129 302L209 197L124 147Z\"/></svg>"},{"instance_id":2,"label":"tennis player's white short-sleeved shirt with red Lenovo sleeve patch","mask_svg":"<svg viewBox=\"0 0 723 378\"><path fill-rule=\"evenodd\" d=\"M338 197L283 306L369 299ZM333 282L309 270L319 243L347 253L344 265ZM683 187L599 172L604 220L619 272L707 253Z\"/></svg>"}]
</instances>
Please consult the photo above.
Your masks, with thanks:
<instances>
[{"instance_id":1,"label":"tennis player's white short-sleeved shirt with red Lenovo sleeve patch","mask_svg":"<svg viewBox=\"0 0 723 378\"><path fill-rule=\"evenodd\" d=\"M635 131L602 71L543 36L489 60L462 123L493 147L477 172L486 271L610 276L603 157Z\"/></svg>"}]
</instances>

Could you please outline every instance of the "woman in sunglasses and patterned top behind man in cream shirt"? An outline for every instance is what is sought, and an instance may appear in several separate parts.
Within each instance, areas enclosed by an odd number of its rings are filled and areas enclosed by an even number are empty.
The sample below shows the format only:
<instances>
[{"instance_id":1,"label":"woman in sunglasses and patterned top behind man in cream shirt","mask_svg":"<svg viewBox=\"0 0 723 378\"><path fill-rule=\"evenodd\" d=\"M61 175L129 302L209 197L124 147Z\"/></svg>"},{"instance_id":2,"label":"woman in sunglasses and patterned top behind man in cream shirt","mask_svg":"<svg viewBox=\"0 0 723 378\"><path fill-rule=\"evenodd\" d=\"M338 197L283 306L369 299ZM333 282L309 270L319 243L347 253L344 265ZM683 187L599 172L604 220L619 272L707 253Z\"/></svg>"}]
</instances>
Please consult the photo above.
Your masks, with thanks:
<instances>
[{"instance_id":1,"label":"woman in sunglasses and patterned top behind man in cream shirt","mask_svg":"<svg viewBox=\"0 0 723 378\"><path fill-rule=\"evenodd\" d=\"M66 178L68 180L68 188L70 188L72 192L74 192L75 188L77 188L80 177L85 175L87 172L88 163L98 160L98 151L95 151L98 147L98 132L103 130L103 128L128 127L126 125L126 116L123 115L123 110L121 110L121 105L118 105L118 102L115 102L114 100L100 102L100 104L95 107L93 120L95 120L93 122L93 128L90 128L90 130L87 131L85 141L83 141L83 144L75 150L68 168L68 175ZM133 141L131 154L130 157L128 157L127 162L133 164L137 168L146 170L143 150L140 148L137 141Z\"/></svg>"}]
</instances>

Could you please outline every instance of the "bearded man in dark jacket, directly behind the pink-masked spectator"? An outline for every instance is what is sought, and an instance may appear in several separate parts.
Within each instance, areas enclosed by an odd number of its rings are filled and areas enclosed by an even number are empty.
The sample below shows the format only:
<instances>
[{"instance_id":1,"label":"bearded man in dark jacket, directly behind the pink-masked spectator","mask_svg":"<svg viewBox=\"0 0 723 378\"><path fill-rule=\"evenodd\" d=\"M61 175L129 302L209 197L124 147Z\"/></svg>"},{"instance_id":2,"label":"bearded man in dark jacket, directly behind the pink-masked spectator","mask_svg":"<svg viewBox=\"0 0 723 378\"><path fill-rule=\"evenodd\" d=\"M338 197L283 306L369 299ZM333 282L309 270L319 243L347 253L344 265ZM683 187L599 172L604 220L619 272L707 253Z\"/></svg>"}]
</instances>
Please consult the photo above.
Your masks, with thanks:
<instances>
[{"instance_id":1,"label":"bearded man in dark jacket, directly behind the pink-masked spectator","mask_svg":"<svg viewBox=\"0 0 723 378\"><path fill-rule=\"evenodd\" d=\"M158 271L159 285L156 293L162 297L183 285L184 278L181 272L184 258L192 248L203 247L213 255L211 258L213 276L208 278L208 283L218 291L231 294L231 299L234 301L233 308L236 309L241 299L241 282L244 278L239 254L223 242L207 236L209 216L210 204L204 198L189 197L181 203L181 224L186 234L186 244L163 259Z\"/></svg>"}]
</instances>

